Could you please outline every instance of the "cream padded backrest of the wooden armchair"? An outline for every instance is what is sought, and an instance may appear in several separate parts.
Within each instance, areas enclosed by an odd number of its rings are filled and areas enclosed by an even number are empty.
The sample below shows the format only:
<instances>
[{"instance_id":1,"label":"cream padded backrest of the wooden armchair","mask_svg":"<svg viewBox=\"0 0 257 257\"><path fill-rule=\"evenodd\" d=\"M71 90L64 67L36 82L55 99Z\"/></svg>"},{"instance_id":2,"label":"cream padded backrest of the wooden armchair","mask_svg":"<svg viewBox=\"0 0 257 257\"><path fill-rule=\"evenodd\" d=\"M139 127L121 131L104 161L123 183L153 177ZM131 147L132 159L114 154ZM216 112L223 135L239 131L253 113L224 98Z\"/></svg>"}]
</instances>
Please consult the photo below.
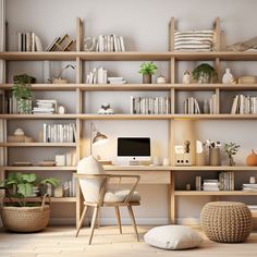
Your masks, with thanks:
<instances>
[{"instance_id":1,"label":"cream padded backrest of the wooden armchair","mask_svg":"<svg viewBox=\"0 0 257 257\"><path fill-rule=\"evenodd\" d=\"M93 157L86 157L77 163L78 174L105 174L103 167ZM96 203L99 198L99 192L103 179L79 179L79 186L84 199L89 203Z\"/></svg>"}]
</instances>

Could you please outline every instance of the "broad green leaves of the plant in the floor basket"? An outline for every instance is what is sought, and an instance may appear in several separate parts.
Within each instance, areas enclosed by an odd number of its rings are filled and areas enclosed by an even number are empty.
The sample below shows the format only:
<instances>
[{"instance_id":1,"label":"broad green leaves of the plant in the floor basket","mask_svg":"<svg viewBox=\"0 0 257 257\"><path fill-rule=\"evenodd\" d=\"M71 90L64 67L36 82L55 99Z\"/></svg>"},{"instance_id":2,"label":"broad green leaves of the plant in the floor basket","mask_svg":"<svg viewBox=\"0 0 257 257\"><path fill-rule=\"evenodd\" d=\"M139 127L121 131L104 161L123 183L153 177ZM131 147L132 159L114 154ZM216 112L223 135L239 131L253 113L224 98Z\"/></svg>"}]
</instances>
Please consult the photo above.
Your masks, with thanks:
<instances>
[{"instance_id":1,"label":"broad green leaves of the plant in the floor basket","mask_svg":"<svg viewBox=\"0 0 257 257\"><path fill-rule=\"evenodd\" d=\"M27 206L26 197L34 195L33 188L35 186L51 184L52 186L59 185L59 180L54 178L47 178L39 181L36 174L10 173L8 178L0 182L0 186L4 186L7 197L17 198L19 206Z\"/></svg>"}]
</instances>

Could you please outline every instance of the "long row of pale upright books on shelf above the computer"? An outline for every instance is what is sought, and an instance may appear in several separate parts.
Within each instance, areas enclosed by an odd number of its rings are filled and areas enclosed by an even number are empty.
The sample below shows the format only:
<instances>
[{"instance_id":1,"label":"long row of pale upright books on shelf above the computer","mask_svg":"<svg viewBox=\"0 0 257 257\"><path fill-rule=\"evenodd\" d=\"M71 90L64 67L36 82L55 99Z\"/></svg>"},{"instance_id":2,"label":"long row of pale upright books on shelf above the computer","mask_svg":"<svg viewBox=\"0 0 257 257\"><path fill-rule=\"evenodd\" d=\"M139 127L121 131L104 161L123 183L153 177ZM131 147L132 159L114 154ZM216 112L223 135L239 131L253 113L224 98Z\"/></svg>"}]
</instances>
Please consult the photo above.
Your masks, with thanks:
<instances>
[{"instance_id":1,"label":"long row of pale upright books on shelf above the computer","mask_svg":"<svg viewBox=\"0 0 257 257\"><path fill-rule=\"evenodd\" d=\"M133 97L131 96L131 114L169 114L169 97Z\"/></svg>"}]
</instances>

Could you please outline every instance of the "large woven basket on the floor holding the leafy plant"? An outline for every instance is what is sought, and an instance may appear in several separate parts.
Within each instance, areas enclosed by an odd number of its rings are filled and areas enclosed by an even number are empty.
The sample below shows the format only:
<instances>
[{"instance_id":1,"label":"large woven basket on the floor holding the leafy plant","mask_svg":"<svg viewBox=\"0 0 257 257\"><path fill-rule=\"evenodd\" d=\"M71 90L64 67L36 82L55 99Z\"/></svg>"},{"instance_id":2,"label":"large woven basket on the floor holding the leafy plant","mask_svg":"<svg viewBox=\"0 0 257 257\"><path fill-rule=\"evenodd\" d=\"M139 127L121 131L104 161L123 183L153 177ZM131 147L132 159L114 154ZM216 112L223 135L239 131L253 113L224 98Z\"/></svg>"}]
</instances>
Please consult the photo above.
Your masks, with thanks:
<instances>
[{"instance_id":1,"label":"large woven basket on the floor holding the leafy plant","mask_svg":"<svg viewBox=\"0 0 257 257\"><path fill-rule=\"evenodd\" d=\"M38 207L12 207L3 206L1 208L1 218L3 227L14 232L36 232L45 229L50 219L49 205L42 199Z\"/></svg>"}]
</instances>

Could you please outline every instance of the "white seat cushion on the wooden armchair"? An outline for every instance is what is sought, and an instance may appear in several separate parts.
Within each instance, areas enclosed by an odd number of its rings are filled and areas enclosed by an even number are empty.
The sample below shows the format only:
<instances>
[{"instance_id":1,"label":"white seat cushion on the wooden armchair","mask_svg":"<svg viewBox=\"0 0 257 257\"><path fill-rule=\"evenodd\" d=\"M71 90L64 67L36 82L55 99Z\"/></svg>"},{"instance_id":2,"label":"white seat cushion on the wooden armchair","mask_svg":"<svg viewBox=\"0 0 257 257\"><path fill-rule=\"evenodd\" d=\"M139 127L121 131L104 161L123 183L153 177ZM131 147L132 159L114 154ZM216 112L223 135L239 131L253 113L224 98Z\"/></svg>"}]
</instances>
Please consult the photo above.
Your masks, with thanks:
<instances>
[{"instance_id":1,"label":"white seat cushion on the wooden armchair","mask_svg":"<svg viewBox=\"0 0 257 257\"><path fill-rule=\"evenodd\" d=\"M111 203L117 203L117 201L124 201L126 196L130 194L128 189L124 191L107 191L105 194L103 201L111 201ZM139 201L140 200L140 195L138 192L134 192L132 198L130 201Z\"/></svg>"}]
</instances>

